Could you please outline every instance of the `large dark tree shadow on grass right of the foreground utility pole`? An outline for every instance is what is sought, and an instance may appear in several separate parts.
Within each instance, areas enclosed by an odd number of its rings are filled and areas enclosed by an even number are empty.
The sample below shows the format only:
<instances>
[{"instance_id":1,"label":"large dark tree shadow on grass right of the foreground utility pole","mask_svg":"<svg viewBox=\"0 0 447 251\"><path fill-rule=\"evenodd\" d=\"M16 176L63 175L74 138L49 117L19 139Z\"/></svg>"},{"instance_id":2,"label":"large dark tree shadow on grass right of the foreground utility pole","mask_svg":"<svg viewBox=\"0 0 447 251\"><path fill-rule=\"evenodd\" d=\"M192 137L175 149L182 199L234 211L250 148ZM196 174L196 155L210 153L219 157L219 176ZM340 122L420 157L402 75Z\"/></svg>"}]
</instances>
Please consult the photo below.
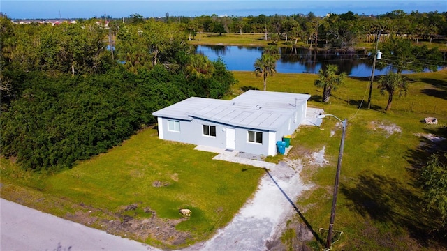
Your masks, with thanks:
<instances>
[{"instance_id":1,"label":"large dark tree shadow on grass right of the foreground utility pole","mask_svg":"<svg viewBox=\"0 0 447 251\"><path fill-rule=\"evenodd\" d=\"M429 245L427 229L430 221L427 220L427 215L422 213L421 199L405 188L401 181L366 172L358 177L354 186L341 184L340 187L340 191L351 201L348 203L349 207L360 215L369 215L372 220L386 225L400 226L409 231L411 238L420 245L425 247ZM390 228L397 231L399 229L399 227ZM377 241L379 243L380 240Z\"/></svg>"}]
</instances>

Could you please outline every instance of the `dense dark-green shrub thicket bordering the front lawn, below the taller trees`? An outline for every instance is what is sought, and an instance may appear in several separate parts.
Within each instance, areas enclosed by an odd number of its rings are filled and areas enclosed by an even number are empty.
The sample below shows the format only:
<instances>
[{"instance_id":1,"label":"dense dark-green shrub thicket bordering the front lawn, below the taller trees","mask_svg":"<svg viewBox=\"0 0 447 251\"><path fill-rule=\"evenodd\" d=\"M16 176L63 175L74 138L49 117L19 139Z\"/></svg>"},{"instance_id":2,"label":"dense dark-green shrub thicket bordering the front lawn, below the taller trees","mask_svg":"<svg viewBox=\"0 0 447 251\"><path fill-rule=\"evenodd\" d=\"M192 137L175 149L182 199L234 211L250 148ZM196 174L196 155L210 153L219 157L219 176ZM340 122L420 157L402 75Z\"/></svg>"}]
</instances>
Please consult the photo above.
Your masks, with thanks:
<instances>
[{"instance_id":1,"label":"dense dark-green shrub thicket bordering the front lawn, below the taller trees","mask_svg":"<svg viewBox=\"0 0 447 251\"><path fill-rule=\"evenodd\" d=\"M163 66L138 75L124 68L58 78L11 74L17 94L1 113L1 152L27 169L72 167L155 123L158 109L190 96L223 96L234 77L214 64L220 68L211 79L186 79Z\"/></svg>"}]
</instances>

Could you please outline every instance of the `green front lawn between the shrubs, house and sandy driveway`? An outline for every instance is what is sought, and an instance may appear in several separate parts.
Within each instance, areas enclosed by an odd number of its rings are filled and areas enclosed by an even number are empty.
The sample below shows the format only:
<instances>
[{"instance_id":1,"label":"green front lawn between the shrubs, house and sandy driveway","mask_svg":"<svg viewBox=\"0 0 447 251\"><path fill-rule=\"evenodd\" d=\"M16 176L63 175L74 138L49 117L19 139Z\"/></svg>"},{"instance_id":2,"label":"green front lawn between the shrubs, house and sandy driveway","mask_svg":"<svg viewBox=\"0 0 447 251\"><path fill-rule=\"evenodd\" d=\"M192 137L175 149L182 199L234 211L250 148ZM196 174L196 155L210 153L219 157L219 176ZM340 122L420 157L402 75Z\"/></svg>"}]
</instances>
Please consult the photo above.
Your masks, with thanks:
<instances>
[{"instance_id":1,"label":"green front lawn between the shrubs, house and sandy driveway","mask_svg":"<svg viewBox=\"0 0 447 251\"><path fill-rule=\"evenodd\" d=\"M212 160L215 153L193 147L163 141L155 129L147 128L122 146L59 174L22 172L2 159L1 197L62 217L79 210L80 204L105 212L122 212L138 204L164 219L181 218L179 208L189 208L191 218L176 228L191 232L187 243L202 241L233 218L265 171ZM142 209L137 212L133 217L150 217Z\"/></svg>"}]
</instances>

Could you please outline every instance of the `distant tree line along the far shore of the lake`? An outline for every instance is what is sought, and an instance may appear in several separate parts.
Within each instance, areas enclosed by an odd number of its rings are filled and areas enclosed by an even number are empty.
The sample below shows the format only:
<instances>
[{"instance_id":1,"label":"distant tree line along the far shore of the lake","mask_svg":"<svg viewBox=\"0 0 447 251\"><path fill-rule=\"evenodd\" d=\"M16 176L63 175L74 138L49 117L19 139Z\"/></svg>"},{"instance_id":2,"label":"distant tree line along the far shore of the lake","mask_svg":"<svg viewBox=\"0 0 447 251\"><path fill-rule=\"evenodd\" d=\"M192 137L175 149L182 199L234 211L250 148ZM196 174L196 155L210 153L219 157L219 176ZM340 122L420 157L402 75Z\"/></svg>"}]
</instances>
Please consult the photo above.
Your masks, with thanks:
<instances>
[{"instance_id":1,"label":"distant tree line along the far shore of the lake","mask_svg":"<svg viewBox=\"0 0 447 251\"><path fill-rule=\"evenodd\" d=\"M107 18L107 17L103 17ZM109 17L110 19L111 17ZM142 15L130 15L126 22L142 22ZM265 40L283 40L297 44L298 40L309 47L353 47L356 44L374 43L381 31L382 39L404 36L419 43L447 35L447 12L420 13L393 10L382 15L359 15L348 11L342 14L328 13L317 17L314 13L295 15L249 15L247 17L201 15L199 17L160 17L166 23L181 24L193 38L203 32L212 33L265 33ZM122 20L114 20L117 27ZM112 28L113 29L113 28Z\"/></svg>"}]
</instances>

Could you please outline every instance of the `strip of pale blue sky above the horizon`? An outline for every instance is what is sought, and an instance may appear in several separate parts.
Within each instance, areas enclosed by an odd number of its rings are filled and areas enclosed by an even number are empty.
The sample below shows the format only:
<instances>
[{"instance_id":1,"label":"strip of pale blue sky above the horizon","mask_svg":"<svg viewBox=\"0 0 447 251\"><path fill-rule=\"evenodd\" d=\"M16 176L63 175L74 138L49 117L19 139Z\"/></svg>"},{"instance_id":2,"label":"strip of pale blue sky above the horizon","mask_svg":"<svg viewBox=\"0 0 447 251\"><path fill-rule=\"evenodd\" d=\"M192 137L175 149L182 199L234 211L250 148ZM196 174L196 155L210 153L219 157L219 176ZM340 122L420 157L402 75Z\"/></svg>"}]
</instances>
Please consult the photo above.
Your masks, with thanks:
<instances>
[{"instance_id":1,"label":"strip of pale blue sky above the horizon","mask_svg":"<svg viewBox=\"0 0 447 251\"><path fill-rule=\"evenodd\" d=\"M1 0L0 11L13 19L20 18L90 18L110 15L111 17L128 17L138 13L143 17L200 16L200 15L292 15L313 12L322 16L327 13L353 13L365 15L384 14L393 10L411 13L446 12L447 0ZM59 14L60 13L60 14Z\"/></svg>"}]
</instances>

